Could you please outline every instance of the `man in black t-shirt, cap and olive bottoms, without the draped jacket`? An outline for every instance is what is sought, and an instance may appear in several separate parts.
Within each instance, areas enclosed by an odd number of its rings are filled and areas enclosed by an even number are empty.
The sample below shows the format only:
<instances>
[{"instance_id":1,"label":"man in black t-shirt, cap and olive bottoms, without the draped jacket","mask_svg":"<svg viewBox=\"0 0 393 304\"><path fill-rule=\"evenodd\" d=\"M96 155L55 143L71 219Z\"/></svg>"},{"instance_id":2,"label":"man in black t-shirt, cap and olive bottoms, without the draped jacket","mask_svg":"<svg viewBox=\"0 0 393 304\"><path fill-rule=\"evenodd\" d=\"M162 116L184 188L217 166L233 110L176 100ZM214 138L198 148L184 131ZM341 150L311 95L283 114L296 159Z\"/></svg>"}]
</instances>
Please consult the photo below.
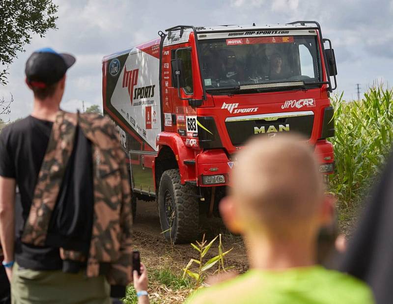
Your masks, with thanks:
<instances>
[{"instance_id":1,"label":"man in black t-shirt, cap and olive bottoms, without the draped jacket","mask_svg":"<svg viewBox=\"0 0 393 304\"><path fill-rule=\"evenodd\" d=\"M74 56L49 48L34 52L25 70L26 83L34 94L33 111L0 133L2 264L16 303L110 303L110 286L104 276L85 278L83 272L64 273L58 248L20 240L64 93L65 73L74 62ZM17 201L16 186L20 192Z\"/></svg>"}]
</instances>

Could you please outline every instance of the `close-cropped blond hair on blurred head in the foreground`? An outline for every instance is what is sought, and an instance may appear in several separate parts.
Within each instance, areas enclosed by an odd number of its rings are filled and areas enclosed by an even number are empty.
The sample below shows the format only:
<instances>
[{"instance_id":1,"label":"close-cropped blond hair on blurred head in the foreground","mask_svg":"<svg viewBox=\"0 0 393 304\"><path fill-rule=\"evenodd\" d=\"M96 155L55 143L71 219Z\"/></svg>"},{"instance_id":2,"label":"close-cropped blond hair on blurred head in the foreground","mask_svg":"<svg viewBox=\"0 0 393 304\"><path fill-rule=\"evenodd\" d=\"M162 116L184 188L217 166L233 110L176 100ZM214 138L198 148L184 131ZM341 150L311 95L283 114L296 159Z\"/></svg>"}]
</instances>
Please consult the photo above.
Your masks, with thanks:
<instances>
[{"instance_id":1,"label":"close-cropped blond hair on blurred head in the foreground","mask_svg":"<svg viewBox=\"0 0 393 304\"><path fill-rule=\"evenodd\" d=\"M303 138L253 138L237 161L231 193L249 226L284 237L315 217L324 187L311 145Z\"/></svg>"}]
</instances>

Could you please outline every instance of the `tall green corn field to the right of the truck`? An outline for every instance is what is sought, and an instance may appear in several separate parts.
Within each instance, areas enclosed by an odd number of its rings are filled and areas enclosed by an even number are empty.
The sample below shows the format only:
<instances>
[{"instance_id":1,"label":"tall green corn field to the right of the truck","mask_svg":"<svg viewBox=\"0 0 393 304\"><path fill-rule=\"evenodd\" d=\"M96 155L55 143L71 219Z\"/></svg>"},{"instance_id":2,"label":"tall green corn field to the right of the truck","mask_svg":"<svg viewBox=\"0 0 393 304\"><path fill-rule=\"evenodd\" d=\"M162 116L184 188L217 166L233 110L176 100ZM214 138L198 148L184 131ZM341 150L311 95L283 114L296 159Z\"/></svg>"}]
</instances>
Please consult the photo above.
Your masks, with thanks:
<instances>
[{"instance_id":1,"label":"tall green corn field to the right of the truck","mask_svg":"<svg viewBox=\"0 0 393 304\"><path fill-rule=\"evenodd\" d=\"M340 208L353 210L378 177L393 142L393 90L370 88L361 101L332 98L335 107L336 173L331 190L338 195Z\"/></svg>"}]
</instances>

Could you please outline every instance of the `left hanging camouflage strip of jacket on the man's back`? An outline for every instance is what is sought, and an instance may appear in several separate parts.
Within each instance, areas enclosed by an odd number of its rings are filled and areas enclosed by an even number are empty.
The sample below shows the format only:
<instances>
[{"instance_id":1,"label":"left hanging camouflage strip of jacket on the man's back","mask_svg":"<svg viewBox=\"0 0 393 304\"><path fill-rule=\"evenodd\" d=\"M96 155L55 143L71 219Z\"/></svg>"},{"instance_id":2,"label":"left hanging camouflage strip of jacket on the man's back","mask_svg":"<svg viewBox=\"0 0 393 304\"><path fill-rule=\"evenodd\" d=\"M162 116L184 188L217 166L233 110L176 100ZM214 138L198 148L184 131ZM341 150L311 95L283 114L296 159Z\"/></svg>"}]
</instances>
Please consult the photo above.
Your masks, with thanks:
<instances>
[{"instance_id":1,"label":"left hanging camouflage strip of jacket on the man's back","mask_svg":"<svg viewBox=\"0 0 393 304\"><path fill-rule=\"evenodd\" d=\"M22 235L24 243L45 245L49 221L74 148L77 124L78 114L57 112L25 223Z\"/></svg>"}]
</instances>

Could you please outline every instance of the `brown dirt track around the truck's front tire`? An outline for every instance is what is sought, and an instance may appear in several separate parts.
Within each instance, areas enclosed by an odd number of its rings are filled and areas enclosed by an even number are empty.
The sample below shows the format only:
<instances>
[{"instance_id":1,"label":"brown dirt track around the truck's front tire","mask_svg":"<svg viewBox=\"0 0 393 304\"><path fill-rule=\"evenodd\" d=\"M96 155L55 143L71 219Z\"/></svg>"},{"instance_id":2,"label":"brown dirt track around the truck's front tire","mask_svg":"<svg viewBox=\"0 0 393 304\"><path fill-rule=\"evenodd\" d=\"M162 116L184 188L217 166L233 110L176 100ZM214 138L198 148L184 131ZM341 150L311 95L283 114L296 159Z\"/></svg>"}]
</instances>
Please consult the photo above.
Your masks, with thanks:
<instances>
[{"instance_id":1,"label":"brown dirt track around the truck's front tire","mask_svg":"<svg viewBox=\"0 0 393 304\"><path fill-rule=\"evenodd\" d=\"M247 257L242 239L230 234L220 218L202 218L200 227L205 231L209 241L222 233L224 249L233 247L225 259L226 266L234 266L239 272L247 270ZM134 244L135 249L140 250L141 261L148 268L170 267L180 272L191 258L198 258L197 251L190 244L171 246L165 241L161 234L155 202L138 201L134 221ZM218 241L206 255L207 259L217 254L217 246Z\"/></svg>"}]
</instances>

